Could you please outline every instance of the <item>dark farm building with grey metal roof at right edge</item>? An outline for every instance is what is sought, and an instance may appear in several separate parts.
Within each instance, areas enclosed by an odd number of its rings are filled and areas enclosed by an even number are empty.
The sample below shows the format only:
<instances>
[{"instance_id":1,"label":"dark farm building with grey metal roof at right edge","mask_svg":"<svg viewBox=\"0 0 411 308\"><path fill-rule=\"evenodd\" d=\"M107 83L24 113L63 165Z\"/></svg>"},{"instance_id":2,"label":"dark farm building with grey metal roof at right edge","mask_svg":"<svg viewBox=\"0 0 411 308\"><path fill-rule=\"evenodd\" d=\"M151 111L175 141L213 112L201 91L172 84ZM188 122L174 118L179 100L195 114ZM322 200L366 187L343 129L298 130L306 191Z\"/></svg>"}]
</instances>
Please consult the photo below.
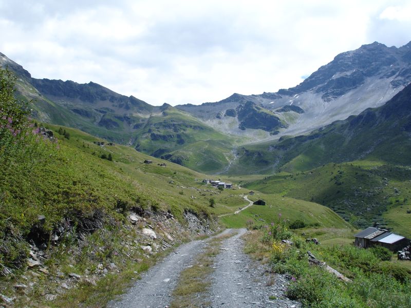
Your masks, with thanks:
<instances>
[{"instance_id":1,"label":"dark farm building with grey metal roof at right edge","mask_svg":"<svg viewBox=\"0 0 411 308\"><path fill-rule=\"evenodd\" d=\"M368 227L354 235L354 237L356 238L354 243L358 247L383 246L393 252L401 250L407 246L409 242L409 240L403 236L375 227Z\"/></svg>"}]
</instances>

